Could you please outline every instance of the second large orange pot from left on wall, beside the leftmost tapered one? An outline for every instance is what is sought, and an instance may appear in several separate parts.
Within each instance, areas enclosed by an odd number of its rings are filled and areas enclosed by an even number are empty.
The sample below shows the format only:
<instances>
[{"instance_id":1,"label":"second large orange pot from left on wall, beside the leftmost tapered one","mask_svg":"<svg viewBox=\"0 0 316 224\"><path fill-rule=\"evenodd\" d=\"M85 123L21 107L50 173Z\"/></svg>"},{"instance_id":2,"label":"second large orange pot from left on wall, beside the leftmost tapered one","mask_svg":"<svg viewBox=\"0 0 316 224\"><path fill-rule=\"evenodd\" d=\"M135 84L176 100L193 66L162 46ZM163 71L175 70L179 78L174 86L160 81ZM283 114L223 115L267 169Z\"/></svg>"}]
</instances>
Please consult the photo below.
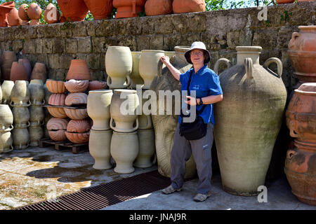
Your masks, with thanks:
<instances>
[{"instance_id":1,"label":"second large orange pot from left on wall, beside the leftmost tapered one","mask_svg":"<svg viewBox=\"0 0 316 224\"><path fill-rule=\"evenodd\" d=\"M107 19L111 16L113 9L112 0L84 0L84 3L86 3L94 20Z\"/></svg>"}]
</instances>

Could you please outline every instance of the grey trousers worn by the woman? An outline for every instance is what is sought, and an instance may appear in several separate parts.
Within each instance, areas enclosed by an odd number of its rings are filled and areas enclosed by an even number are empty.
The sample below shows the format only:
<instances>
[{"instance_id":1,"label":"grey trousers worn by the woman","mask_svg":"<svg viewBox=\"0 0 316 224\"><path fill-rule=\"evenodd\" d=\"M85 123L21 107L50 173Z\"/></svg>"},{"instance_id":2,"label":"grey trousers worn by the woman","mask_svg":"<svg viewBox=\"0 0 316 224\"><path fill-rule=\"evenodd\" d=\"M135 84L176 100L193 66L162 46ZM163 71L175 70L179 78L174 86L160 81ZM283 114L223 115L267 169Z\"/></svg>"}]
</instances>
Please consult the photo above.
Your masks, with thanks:
<instances>
[{"instance_id":1,"label":"grey trousers worn by the woman","mask_svg":"<svg viewBox=\"0 0 316 224\"><path fill-rule=\"evenodd\" d=\"M187 140L179 134L179 124L174 134L173 147L171 149L171 186L174 189L181 188L185 176L185 162L193 153L199 176L197 193L206 194L211 190L212 158L211 148L213 144L213 124L207 125L206 136L202 139Z\"/></svg>"}]
</instances>

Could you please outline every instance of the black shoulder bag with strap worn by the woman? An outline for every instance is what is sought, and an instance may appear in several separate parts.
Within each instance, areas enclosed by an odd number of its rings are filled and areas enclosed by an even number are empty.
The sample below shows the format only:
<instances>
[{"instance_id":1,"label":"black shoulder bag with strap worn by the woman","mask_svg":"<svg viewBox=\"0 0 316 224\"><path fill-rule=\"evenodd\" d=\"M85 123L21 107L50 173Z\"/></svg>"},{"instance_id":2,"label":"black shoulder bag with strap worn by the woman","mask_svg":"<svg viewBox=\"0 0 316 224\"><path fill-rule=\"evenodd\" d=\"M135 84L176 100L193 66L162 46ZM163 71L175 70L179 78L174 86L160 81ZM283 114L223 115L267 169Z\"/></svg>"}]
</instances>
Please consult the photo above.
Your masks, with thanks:
<instances>
[{"instance_id":1,"label":"black shoulder bag with strap worn by the woman","mask_svg":"<svg viewBox=\"0 0 316 224\"><path fill-rule=\"evenodd\" d=\"M187 83L187 92L188 92L189 96L190 96L189 89L190 89L192 72L190 73L190 78L189 78L189 81ZM204 137L206 135L207 124L204 123L203 118L201 116L199 116L199 114L203 113L205 107L206 107L206 105L204 104L202 106L201 111L197 111L195 121L193 121L192 123L183 123L183 118L190 117L190 114L184 115L182 113L182 109L181 109L180 116L182 118L182 122L180 123L180 127L179 127L180 136L184 136L185 139L187 139L187 140L197 140L197 139L201 139L202 137ZM190 110L190 104L188 104L188 109Z\"/></svg>"}]
</instances>

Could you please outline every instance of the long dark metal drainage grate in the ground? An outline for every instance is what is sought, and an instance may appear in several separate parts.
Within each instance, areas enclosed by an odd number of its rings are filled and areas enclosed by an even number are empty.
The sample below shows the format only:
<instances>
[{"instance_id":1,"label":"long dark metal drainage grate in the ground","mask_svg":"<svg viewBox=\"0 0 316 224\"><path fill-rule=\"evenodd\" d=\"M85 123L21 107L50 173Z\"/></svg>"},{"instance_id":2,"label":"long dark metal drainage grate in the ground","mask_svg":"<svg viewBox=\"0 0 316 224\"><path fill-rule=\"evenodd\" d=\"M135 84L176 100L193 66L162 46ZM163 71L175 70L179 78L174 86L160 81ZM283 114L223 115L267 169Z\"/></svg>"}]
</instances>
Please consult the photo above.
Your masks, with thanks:
<instances>
[{"instance_id":1,"label":"long dark metal drainage grate in the ground","mask_svg":"<svg viewBox=\"0 0 316 224\"><path fill-rule=\"evenodd\" d=\"M166 188L170 179L157 170L86 188L53 201L37 202L15 210L96 210Z\"/></svg>"}]
</instances>

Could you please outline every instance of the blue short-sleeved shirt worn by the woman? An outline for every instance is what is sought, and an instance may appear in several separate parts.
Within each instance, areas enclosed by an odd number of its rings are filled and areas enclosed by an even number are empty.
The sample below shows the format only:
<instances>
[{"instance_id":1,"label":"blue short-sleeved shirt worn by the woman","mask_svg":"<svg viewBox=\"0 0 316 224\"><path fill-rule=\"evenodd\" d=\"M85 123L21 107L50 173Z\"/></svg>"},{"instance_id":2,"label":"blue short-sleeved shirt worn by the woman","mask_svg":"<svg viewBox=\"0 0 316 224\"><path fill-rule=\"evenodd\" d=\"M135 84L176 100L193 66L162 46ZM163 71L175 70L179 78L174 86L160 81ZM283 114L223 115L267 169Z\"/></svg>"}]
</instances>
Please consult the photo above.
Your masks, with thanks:
<instances>
[{"instance_id":1,"label":"blue short-sleeved shirt worn by the woman","mask_svg":"<svg viewBox=\"0 0 316 224\"><path fill-rule=\"evenodd\" d=\"M180 74L180 83L181 90L187 90L187 83L191 76L191 83L189 91L195 90L196 97L207 97L209 95L219 95L223 94L223 90L220 87L220 80L216 73L209 69L207 65L204 65L197 73L194 73L193 67L186 71L185 73ZM183 102L185 104L185 102ZM197 111L200 111L204 105L197 105ZM204 123L211 122L214 125L214 113L213 113L213 104L206 104L206 107L200 115ZM181 116L178 117L178 123L181 123Z\"/></svg>"}]
</instances>

